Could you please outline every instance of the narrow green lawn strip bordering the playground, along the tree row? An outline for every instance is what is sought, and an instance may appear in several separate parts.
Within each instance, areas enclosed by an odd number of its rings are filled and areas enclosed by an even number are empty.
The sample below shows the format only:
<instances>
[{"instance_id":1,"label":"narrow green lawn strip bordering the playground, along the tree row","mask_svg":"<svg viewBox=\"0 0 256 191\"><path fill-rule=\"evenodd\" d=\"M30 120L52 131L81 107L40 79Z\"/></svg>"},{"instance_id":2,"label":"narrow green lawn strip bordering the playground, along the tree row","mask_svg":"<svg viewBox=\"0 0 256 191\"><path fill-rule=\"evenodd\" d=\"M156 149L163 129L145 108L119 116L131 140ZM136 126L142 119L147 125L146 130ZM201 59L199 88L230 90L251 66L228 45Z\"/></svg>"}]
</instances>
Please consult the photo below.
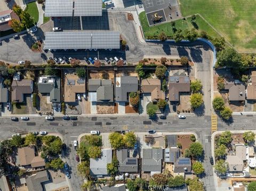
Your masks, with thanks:
<instances>
[{"instance_id":1,"label":"narrow green lawn strip bordering the playground, along the tree row","mask_svg":"<svg viewBox=\"0 0 256 191\"><path fill-rule=\"evenodd\" d=\"M161 34L162 31L164 31L164 33L167 36L173 36L172 26L170 22L149 27L146 13L141 12L139 16L145 38L148 38L148 36L158 36L159 34ZM182 30L190 30L191 28L193 28L193 25L191 24L190 20L191 19L188 18L187 21L183 21L182 19L175 21L175 28L180 28ZM209 24L207 24L201 18L201 16L196 16L196 23L198 25L198 32L204 30L207 31L207 34L211 37L219 37L219 35L209 26Z\"/></svg>"}]
</instances>

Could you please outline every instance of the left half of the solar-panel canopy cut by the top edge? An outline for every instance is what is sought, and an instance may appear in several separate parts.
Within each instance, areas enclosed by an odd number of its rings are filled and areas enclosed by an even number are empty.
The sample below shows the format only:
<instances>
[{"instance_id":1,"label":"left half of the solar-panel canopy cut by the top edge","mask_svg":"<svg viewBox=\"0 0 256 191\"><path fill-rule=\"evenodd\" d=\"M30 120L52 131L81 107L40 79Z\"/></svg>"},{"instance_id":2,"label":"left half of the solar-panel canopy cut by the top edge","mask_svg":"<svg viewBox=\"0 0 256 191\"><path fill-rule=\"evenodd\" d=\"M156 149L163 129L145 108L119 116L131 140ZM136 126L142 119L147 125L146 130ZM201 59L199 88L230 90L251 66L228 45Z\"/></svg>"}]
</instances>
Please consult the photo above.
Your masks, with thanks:
<instances>
[{"instance_id":1,"label":"left half of the solar-panel canopy cut by the top edge","mask_svg":"<svg viewBox=\"0 0 256 191\"><path fill-rule=\"evenodd\" d=\"M45 16L73 16L73 0L46 0Z\"/></svg>"}]
</instances>

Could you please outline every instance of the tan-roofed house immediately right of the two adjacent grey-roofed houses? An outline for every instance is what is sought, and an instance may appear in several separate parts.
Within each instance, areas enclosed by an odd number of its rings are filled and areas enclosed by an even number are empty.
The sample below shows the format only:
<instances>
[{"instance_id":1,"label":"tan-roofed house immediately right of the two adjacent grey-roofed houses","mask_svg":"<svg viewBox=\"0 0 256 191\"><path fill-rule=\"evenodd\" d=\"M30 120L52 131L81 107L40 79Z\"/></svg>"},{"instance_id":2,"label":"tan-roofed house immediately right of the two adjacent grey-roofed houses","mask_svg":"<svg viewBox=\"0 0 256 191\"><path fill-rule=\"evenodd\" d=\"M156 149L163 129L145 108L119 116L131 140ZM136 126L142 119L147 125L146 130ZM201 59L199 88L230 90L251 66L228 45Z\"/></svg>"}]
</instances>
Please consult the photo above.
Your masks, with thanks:
<instances>
[{"instance_id":1,"label":"tan-roofed house immediately right of the two adjacent grey-roofed houses","mask_svg":"<svg viewBox=\"0 0 256 191\"><path fill-rule=\"evenodd\" d=\"M150 93L152 102L157 102L159 99L165 99L165 93L161 90L161 80L159 79L143 79L141 81L141 92Z\"/></svg>"}]
</instances>

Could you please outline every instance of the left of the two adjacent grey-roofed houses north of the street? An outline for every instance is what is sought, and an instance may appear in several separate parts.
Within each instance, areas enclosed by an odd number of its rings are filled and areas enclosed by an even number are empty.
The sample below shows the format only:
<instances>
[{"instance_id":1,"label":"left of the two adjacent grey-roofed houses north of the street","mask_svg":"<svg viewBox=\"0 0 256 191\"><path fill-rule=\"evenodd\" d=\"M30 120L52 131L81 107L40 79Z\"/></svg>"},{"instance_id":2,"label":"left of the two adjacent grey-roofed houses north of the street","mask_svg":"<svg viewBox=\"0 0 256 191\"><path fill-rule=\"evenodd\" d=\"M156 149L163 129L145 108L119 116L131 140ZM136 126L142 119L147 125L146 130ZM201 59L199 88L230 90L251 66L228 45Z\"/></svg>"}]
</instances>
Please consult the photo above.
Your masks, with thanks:
<instances>
[{"instance_id":1,"label":"left of the two adjacent grey-roofed houses north of the street","mask_svg":"<svg viewBox=\"0 0 256 191\"><path fill-rule=\"evenodd\" d=\"M114 101L114 86L111 80L89 79L89 100L108 103Z\"/></svg>"}]
</instances>

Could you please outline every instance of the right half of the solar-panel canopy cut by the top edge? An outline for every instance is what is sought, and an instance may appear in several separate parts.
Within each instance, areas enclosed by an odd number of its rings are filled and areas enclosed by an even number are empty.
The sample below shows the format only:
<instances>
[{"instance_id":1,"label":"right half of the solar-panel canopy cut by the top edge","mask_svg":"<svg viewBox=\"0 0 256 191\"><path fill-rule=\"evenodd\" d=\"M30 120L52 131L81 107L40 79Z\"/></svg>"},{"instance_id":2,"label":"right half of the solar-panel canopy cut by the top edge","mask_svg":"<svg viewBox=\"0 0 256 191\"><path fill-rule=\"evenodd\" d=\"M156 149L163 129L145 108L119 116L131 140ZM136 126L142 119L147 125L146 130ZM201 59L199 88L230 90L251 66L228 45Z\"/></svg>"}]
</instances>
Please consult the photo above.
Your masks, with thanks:
<instances>
[{"instance_id":1,"label":"right half of the solar-panel canopy cut by the top edge","mask_svg":"<svg viewBox=\"0 0 256 191\"><path fill-rule=\"evenodd\" d=\"M102 16L101 0L74 0L74 16Z\"/></svg>"}]
</instances>

